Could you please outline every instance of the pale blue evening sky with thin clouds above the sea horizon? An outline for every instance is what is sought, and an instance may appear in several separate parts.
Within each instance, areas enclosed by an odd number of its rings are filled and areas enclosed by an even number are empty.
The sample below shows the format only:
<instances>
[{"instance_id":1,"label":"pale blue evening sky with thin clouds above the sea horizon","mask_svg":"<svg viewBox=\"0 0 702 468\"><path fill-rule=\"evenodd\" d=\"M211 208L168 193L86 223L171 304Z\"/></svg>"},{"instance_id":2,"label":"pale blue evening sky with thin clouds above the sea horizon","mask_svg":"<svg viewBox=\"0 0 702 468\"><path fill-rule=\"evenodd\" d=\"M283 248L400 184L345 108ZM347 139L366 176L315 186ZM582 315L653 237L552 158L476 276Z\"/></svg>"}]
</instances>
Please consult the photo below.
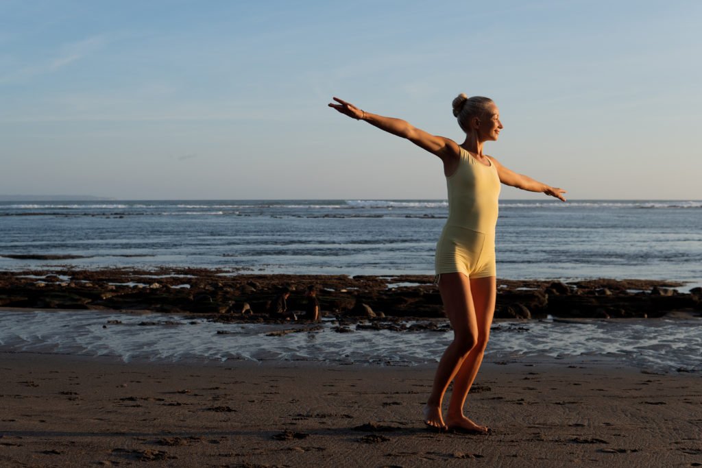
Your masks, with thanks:
<instances>
[{"instance_id":1,"label":"pale blue evening sky with thin clouds above the sea horizon","mask_svg":"<svg viewBox=\"0 0 702 468\"><path fill-rule=\"evenodd\" d=\"M571 199L702 199L702 2L0 0L0 194L445 199L441 161L332 96ZM503 187L503 199L543 194Z\"/></svg>"}]
</instances>

